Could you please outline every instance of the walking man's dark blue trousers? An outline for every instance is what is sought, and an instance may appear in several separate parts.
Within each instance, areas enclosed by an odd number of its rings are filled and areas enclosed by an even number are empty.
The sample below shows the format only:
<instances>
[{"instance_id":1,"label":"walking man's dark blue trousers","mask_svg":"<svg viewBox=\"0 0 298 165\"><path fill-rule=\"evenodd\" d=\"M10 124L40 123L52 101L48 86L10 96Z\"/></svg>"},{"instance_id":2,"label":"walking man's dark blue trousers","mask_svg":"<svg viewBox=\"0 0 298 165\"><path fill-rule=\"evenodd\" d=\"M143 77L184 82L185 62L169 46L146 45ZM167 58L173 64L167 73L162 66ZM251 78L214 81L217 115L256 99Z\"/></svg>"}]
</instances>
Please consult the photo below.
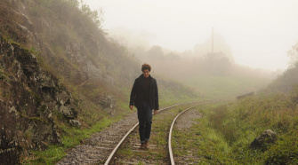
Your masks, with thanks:
<instances>
[{"instance_id":1,"label":"walking man's dark blue trousers","mask_svg":"<svg viewBox=\"0 0 298 165\"><path fill-rule=\"evenodd\" d=\"M141 107L138 107L139 133L141 143L149 141L152 123L152 109L148 103L143 102Z\"/></svg>"}]
</instances>

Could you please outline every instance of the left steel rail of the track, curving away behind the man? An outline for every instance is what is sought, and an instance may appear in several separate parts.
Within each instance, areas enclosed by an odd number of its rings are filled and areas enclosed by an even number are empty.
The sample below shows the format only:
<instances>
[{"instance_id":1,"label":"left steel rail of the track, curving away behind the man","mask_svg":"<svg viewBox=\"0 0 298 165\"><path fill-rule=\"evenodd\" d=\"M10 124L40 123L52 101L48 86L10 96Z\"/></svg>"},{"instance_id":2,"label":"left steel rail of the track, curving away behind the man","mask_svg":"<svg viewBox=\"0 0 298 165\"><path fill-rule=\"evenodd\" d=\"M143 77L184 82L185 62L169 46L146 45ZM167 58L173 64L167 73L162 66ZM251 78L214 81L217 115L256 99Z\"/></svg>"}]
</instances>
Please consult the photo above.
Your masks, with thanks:
<instances>
[{"instance_id":1,"label":"left steel rail of the track, curving away behind the man","mask_svg":"<svg viewBox=\"0 0 298 165\"><path fill-rule=\"evenodd\" d=\"M201 100L201 101L190 101L190 102L186 102L186 103L180 103L180 104L176 104L173 106L167 106L165 108L162 108L159 110L163 111L165 109L169 109L171 107L174 106L181 106L181 105L185 105L185 104L190 104L190 103L199 103L199 102L205 102L205 101L210 101L210 100ZM109 154L109 158L107 159L107 161L104 163L105 165L108 165L111 163L111 161L113 160L115 153L117 152L118 148L125 142L125 139L128 137L129 134L132 133L132 131L139 125L139 122L137 122L135 125L133 125L133 128L131 130L128 130L128 132L125 134L125 136L119 141L119 143L116 145L116 147L114 148L114 150L112 151L112 153Z\"/></svg>"}]
</instances>

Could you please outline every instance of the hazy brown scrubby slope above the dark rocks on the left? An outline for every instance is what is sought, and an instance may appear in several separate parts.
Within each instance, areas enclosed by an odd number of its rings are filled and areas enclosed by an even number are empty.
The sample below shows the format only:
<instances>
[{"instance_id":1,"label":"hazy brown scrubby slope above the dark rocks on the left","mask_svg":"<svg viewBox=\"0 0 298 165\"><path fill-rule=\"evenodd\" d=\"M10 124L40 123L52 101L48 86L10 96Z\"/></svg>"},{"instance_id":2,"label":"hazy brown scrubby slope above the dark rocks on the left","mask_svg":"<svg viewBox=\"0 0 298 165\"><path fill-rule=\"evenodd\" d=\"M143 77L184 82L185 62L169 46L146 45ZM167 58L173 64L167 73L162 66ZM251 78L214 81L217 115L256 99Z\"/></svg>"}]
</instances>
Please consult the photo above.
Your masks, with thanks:
<instances>
[{"instance_id":1,"label":"hazy brown scrubby slope above the dark rocks on the left","mask_svg":"<svg viewBox=\"0 0 298 165\"><path fill-rule=\"evenodd\" d=\"M80 101L91 101L83 109L114 114L119 98L115 95L120 95L115 87L131 88L140 66L124 47L109 40L88 13L72 3L76 1L4 0L0 3L0 32L41 52L54 75L62 78L68 89L76 87Z\"/></svg>"}]
</instances>

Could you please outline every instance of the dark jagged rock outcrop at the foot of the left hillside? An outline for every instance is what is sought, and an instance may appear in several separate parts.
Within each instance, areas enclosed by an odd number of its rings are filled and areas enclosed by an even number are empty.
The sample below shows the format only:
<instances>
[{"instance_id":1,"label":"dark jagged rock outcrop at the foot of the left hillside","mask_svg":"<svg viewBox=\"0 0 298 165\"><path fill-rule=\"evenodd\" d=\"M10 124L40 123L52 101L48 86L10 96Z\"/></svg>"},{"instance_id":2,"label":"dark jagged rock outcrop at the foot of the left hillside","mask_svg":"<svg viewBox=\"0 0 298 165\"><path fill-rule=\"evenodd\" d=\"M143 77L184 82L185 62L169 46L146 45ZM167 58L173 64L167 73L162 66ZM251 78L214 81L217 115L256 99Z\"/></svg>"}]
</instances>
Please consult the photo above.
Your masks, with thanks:
<instances>
[{"instance_id":1,"label":"dark jagged rock outcrop at the foot of the left hillside","mask_svg":"<svg viewBox=\"0 0 298 165\"><path fill-rule=\"evenodd\" d=\"M1 35L1 33L0 33ZM28 149L59 144L52 113L76 118L76 103L59 81L19 44L0 36L0 160L18 163Z\"/></svg>"}]
</instances>

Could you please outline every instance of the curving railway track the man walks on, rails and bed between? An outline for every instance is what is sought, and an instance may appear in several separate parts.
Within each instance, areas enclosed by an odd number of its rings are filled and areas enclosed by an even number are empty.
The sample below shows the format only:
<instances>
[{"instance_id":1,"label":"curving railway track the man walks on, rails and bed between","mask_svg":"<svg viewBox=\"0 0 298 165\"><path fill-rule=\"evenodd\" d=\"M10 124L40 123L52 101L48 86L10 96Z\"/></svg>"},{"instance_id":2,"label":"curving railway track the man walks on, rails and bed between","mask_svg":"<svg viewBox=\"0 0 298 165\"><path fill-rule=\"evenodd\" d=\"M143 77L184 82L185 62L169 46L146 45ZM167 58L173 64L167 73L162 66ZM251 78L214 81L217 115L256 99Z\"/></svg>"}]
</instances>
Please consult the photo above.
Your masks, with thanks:
<instances>
[{"instance_id":1,"label":"curving railway track the man walks on, rails and bed between","mask_svg":"<svg viewBox=\"0 0 298 165\"><path fill-rule=\"evenodd\" d=\"M197 102L189 102L189 103L192 103L192 104L196 103L196 106L200 106L200 105L205 105L208 103L216 103L216 102L219 102L219 100L205 100L205 101L197 101ZM186 103L184 103L184 104L186 104ZM182 105L182 104L180 104L180 105ZM175 105L175 106L180 106L180 105ZM139 149L140 142L138 139L138 131L136 130L136 128L138 126L138 123L137 123L133 126L133 128L129 132L126 133L125 137L117 144L117 147L109 155L109 158L105 162L105 164L138 164L140 162L146 163L146 164L174 164L173 152L172 152L172 146L171 146L171 143L172 143L171 136L172 136L173 124L175 123L176 119L182 113L184 113L184 112L188 111L189 109L196 107L196 106L192 105L189 108L186 108L180 114L176 113L178 115L173 114L173 112L170 112L170 111L158 113L158 115L164 115L164 116L173 115L173 118L174 118L172 125L171 125L171 129L169 129L170 128L169 125L171 123L169 123L168 126L166 126L167 129L165 128L165 130L169 132L169 134L168 134L169 141L167 142L168 150L166 149L166 146L158 145L158 144L150 145L149 151ZM173 106L166 107L163 110L169 109L171 107L173 107ZM163 117L161 117L161 119L163 119ZM154 125L152 125L152 126L154 126ZM155 130L157 132L155 132ZM160 132L158 132L158 129L153 127L151 135L158 134L158 133L160 133ZM130 135L130 137L129 137L129 135ZM125 145L124 145L124 143L125 143ZM125 157L125 156L121 155L121 153L117 155L117 150L120 148L121 145L124 145L123 150L127 149L128 153L133 152L134 156L133 157L132 156ZM158 154L164 154L164 157L161 155L160 158L158 158L158 159L149 158L150 156L147 153L150 153L151 155L153 155L153 157L158 157ZM170 155L170 156L165 156L165 154Z\"/></svg>"}]
</instances>

